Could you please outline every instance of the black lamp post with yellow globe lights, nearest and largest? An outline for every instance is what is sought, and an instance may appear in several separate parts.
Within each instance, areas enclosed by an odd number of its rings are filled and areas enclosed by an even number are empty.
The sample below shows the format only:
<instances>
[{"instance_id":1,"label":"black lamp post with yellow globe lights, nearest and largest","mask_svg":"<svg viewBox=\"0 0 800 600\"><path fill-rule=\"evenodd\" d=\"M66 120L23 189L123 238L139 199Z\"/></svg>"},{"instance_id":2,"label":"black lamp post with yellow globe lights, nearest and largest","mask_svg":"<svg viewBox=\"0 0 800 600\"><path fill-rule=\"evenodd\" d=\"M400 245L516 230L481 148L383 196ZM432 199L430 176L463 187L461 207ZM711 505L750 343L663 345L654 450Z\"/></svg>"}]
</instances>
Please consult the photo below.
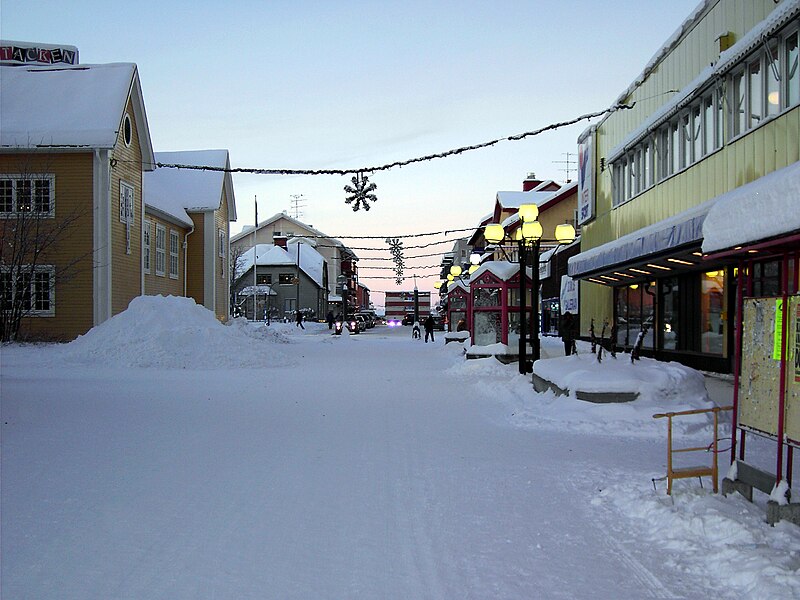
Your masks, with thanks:
<instances>
[{"instance_id":1,"label":"black lamp post with yellow globe lights, nearest and largest","mask_svg":"<svg viewBox=\"0 0 800 600\"><path fill-rule=\"evenodd\" d=\"M542 242L542 224L537 220L539 207L535 204L523 204L519 207L519 216L522 225L517 227L514 237L506 235L502 225L492 223L484 228L483 235L490 244L498 245L508 240L517 243L519 253L519 310L520 310L520 335L519 335L519 372L522 375L532 372L533 363L541 358L541 345L539 342L539 250ZM575 240L575 228L563 223L556 227L555 241L559 245L571 244ZM527 358L527 257L531 258L531 360Z\"/></svg>"}]
</instances>

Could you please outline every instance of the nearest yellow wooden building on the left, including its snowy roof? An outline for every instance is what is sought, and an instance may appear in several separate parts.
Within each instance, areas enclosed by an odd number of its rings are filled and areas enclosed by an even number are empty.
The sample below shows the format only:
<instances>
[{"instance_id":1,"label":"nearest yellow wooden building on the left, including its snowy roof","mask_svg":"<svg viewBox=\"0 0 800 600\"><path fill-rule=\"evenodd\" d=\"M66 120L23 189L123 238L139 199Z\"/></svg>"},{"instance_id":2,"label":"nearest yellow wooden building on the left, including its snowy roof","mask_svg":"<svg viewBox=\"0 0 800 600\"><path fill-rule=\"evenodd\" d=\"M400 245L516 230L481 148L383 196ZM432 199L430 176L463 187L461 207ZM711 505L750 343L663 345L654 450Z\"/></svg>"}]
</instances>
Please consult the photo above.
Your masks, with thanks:
<instances>
[{"instance_id":1,"label":"nearest yellow wooden building on the left, including its snowy roof","mask_svg":"<svg viewBox=\"0 0 800 600\"><path fill-rule=\"evenodd\" d=\"M73 339L142 293L142 173L154 161L138 70L0 69L4 307L21 292L23 336ZM44 250L20 261L23 222Z\"/></svg>"}]
</instances>

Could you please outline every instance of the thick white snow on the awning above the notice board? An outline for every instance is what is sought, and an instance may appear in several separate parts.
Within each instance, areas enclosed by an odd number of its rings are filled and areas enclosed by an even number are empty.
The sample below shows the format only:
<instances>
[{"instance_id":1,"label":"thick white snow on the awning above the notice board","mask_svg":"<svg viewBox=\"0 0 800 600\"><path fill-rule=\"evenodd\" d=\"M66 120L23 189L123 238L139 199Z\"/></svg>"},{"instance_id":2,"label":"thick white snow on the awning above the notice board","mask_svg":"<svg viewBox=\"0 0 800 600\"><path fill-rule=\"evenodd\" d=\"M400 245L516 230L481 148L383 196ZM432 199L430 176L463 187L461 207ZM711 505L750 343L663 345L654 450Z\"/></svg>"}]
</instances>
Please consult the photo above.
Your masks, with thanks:
<instances>
[{"instance_id":1,"label":"thick white snow on the awning above the notice board","mask_svg":"<svg viewBox=\"0 0 800 600\"><path fill-rule=\"evenodd\" d=\"M800 231L800 162L717 197L703 224L703 252Z\"/></svg>"}]
</instances>

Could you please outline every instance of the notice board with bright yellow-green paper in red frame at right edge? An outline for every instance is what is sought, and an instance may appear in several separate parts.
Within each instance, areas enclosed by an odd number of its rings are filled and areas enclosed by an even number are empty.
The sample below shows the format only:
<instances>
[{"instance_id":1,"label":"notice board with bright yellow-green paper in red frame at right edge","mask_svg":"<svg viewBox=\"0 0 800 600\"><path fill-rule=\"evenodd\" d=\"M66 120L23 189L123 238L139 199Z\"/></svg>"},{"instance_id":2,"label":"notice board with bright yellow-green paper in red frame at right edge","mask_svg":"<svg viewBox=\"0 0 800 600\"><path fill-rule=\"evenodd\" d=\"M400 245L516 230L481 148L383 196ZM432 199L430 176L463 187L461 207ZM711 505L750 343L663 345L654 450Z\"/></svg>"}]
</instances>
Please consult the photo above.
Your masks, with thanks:
<instances>
[{"instance_id":1,"label":"notice board with bright yellow-green paper in red frame at right edge","mask_svg":"<svg viewBox=\"0 0 800 600\"><path fill-rule=\"evenodd\" d=\"M781 322L787 319L784 434L800 445L800 296L745 298L738 422L778 435Z\"/></svg>"}]
</instances>

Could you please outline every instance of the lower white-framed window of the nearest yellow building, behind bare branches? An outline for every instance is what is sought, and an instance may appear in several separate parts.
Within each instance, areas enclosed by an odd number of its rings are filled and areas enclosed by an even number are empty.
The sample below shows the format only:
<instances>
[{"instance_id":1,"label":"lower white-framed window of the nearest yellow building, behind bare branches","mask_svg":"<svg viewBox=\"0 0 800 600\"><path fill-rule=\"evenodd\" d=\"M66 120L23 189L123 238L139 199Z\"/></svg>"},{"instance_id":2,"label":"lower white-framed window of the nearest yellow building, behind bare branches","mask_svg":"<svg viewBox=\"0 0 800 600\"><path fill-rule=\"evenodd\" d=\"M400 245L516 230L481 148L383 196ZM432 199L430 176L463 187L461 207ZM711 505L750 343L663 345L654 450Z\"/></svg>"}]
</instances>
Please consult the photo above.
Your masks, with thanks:
<instances>
[{"instance_id":1,"label":"lower white-framed window of the nearest yellow building, behind bare branches","mask_svg":"<svg viewBox=\"0 0 800 600\"><path fill-rule=\"evenodd\" d=\"M0 271L0 307L9 310L15 299L21 301L25 316L55 314L55 268L23 266Z\"/></svg>"}]
</instances>

